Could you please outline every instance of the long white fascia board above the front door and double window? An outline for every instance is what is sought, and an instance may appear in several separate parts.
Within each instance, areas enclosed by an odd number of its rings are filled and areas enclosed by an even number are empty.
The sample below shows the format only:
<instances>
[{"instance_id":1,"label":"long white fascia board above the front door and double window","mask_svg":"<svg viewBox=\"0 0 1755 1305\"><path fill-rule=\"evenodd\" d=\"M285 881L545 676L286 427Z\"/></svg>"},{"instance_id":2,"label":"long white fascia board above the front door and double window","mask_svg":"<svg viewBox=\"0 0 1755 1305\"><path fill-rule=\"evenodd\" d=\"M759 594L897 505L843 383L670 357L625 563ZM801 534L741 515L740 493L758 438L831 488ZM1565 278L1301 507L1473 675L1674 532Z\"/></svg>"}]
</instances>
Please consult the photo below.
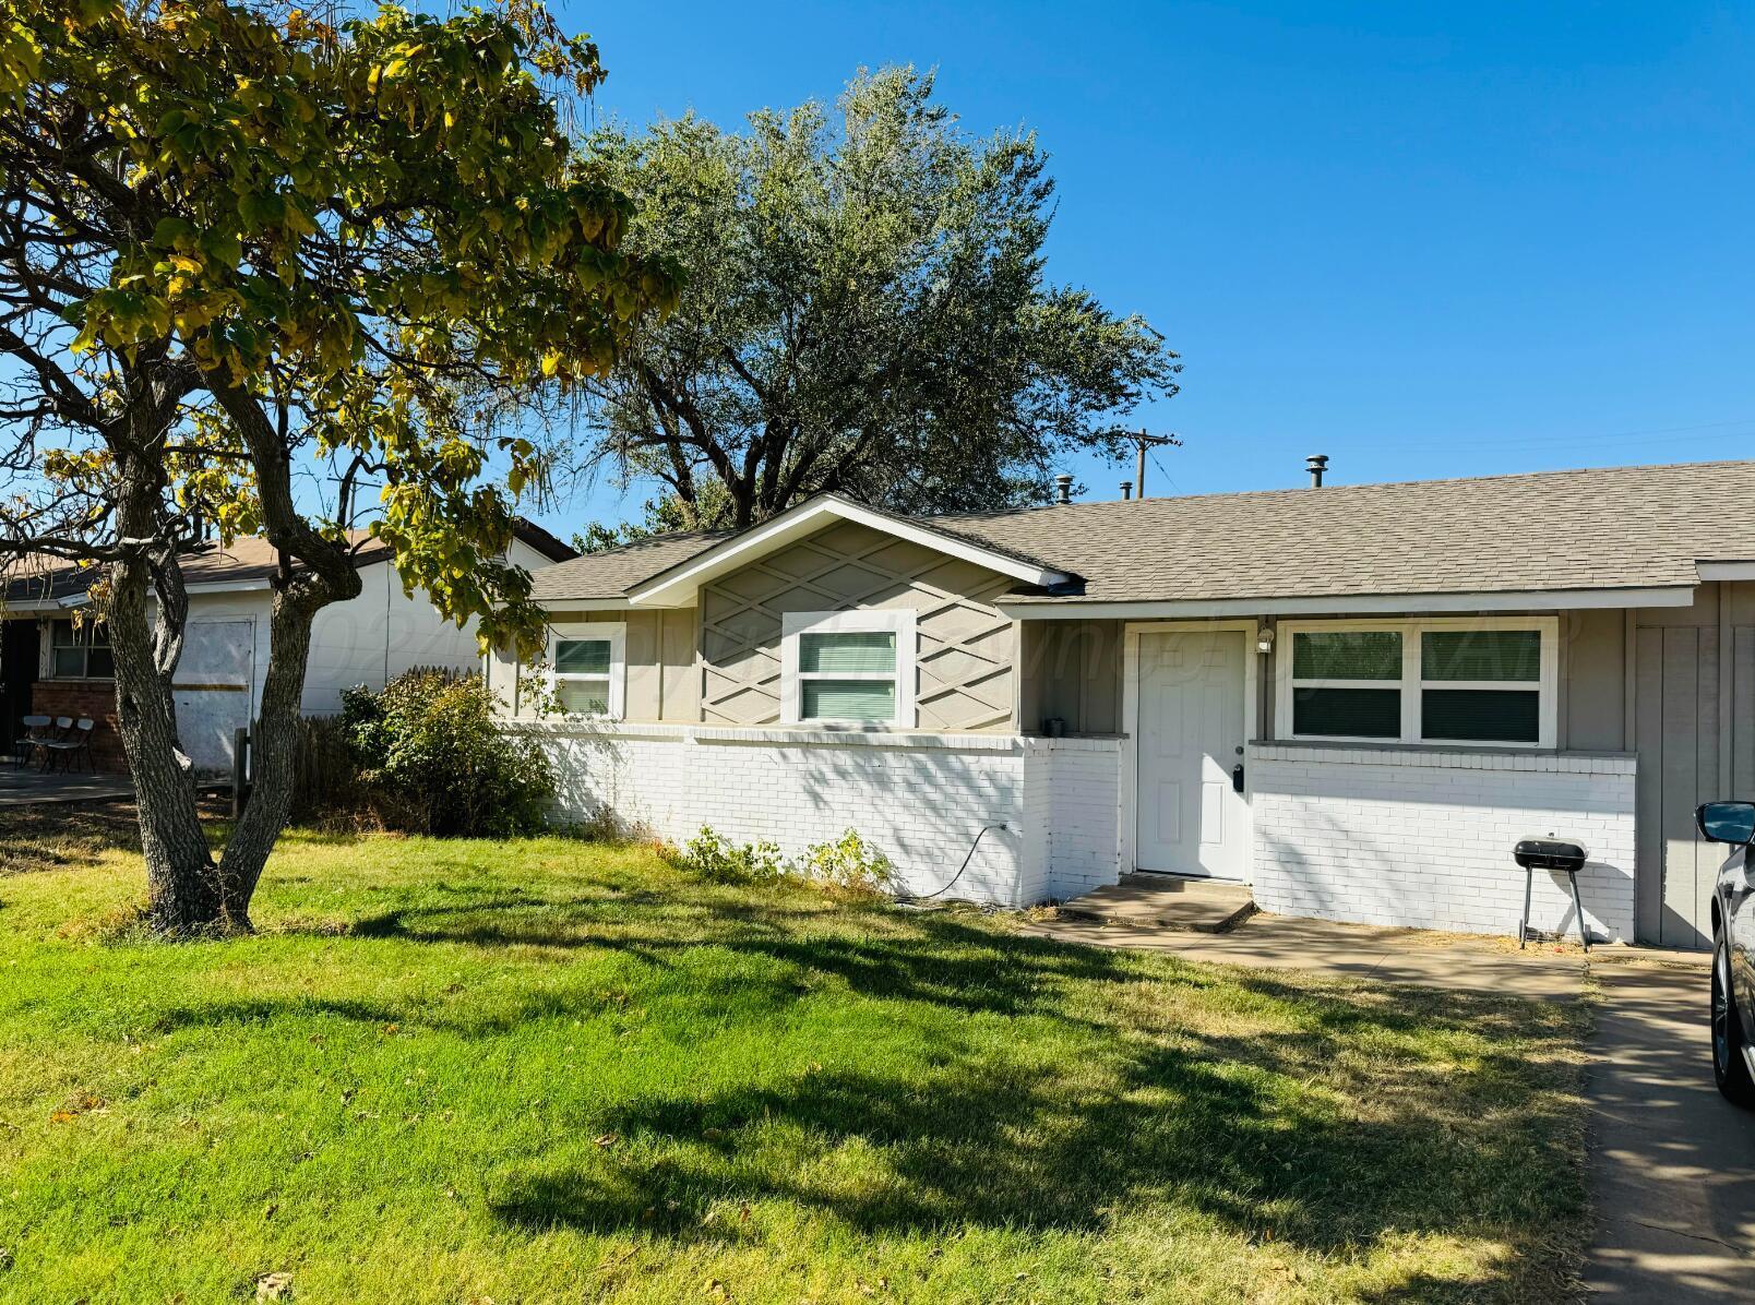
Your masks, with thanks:
<instances>
[{"instance_id":1,"label":"long white fascia board above the front door and double window","mask_svg":"<svg viewBox=\"0 0 1755 1305\"><path fill-rule=\"evenodd\" d=\"M1200 619L1227 616L1413 616L1420 612L1565 612L1594 607L1692 607L1692 584L1657 589L1520 589L1506 593L1336 595L1329 598L1178 598L1165 602L1030 602L1000 598L1016 621Z\"/></svg>"}]
</instances>

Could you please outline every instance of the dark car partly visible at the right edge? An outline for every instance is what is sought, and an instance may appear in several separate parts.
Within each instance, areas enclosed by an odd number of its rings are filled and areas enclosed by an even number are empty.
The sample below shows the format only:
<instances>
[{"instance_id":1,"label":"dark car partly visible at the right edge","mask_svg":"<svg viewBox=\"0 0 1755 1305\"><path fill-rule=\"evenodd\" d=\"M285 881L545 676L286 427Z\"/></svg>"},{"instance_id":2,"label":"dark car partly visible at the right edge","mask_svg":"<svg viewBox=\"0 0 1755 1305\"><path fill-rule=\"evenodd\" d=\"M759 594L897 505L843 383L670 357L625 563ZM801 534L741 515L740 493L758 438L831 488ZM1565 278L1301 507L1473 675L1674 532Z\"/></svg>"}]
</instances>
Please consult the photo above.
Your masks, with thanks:
<instances>
[{"instance_id":1,"label":"dark car partly visible at the right edge","mask_svg":"<svg viewBox=\"0 0 1755 1305\"><path fill-rule=\"evenodd\" d=\"M1708 802L1694 819L1732 847L1713 889L1713 1077L1729 1100L1755 1109L1755 802Z\"/></svg>"}]
</instances>

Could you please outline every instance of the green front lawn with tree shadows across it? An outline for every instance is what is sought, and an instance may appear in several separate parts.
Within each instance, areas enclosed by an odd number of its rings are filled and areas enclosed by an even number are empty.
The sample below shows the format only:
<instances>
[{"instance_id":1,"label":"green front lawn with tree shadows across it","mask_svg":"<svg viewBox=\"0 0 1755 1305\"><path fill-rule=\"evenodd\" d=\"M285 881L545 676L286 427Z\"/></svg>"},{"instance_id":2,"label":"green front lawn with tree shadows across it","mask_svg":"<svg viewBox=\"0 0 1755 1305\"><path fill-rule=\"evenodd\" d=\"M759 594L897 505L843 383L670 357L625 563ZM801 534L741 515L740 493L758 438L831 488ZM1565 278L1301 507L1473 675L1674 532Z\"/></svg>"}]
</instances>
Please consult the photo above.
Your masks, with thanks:
<instances>
[{"instance_id":1,"label":"green front lawn with tree shadows across it","mask_svg":"<svg viewBox=\"0 0 1755 1305\"><path fill-rule=\"evenodd\" d=\"M1571 1005L562 838L295 833L167 945L125 844L0 816L7 1301L1574 1294Z\"/></svg>"}]
</instances>

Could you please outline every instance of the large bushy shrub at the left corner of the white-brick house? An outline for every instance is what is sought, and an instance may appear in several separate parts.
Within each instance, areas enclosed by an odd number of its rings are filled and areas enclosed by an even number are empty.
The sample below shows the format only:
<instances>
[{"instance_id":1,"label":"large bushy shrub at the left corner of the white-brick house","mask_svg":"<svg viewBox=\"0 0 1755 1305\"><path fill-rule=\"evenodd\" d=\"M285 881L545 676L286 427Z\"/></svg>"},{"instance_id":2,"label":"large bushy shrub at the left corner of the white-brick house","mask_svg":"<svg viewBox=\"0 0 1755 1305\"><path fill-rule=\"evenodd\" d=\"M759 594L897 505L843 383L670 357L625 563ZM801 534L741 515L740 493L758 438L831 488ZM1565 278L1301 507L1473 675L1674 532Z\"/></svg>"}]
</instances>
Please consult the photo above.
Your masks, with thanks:
<instances>
[{"instance_id":1,"label":"large bushy shrub at the left corner of the white-brick house","mask_svg":"<svg viewBox=\"0 0 1755 1305\"><path fill-rule=\"evenodd\" d=\"M495 723L498 698L479 675L411 670L342 695L360 781L390 823L419 833L509 835L542 828L555 774L530 738Z\"/></svg>"}]
</instances>

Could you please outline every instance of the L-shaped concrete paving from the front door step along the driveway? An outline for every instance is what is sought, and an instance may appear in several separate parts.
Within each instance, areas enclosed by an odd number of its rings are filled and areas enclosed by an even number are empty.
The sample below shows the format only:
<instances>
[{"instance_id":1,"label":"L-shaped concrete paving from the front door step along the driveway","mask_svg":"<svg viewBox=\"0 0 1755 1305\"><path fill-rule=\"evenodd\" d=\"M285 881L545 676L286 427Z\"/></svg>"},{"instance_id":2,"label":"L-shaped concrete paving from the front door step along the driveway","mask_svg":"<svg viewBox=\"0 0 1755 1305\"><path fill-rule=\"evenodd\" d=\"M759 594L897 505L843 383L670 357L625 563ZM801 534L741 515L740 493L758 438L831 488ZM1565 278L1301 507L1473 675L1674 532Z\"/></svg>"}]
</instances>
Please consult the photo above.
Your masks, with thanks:
<instances>
[{"instance_id":1,"label":"L-shaped concrete paving from the front door step along the driveway","mask_svg":"<svg viewBox=\"0 0 1755 1305\"><path fill-rule=\"evenodd\" d=\"M1588 1044L1592 1300L1755 1305L1755 1114L1713 1088L1702 954L1597 947L1587 961L1576 949L1530 944L1520 952L1495 938L1285 916L1253 916L1230 933L1076 919L1030 931L1195 961L1537 1000L1583 996L1588 972L1599 993Z\"/></svg>"}]
</instances>

